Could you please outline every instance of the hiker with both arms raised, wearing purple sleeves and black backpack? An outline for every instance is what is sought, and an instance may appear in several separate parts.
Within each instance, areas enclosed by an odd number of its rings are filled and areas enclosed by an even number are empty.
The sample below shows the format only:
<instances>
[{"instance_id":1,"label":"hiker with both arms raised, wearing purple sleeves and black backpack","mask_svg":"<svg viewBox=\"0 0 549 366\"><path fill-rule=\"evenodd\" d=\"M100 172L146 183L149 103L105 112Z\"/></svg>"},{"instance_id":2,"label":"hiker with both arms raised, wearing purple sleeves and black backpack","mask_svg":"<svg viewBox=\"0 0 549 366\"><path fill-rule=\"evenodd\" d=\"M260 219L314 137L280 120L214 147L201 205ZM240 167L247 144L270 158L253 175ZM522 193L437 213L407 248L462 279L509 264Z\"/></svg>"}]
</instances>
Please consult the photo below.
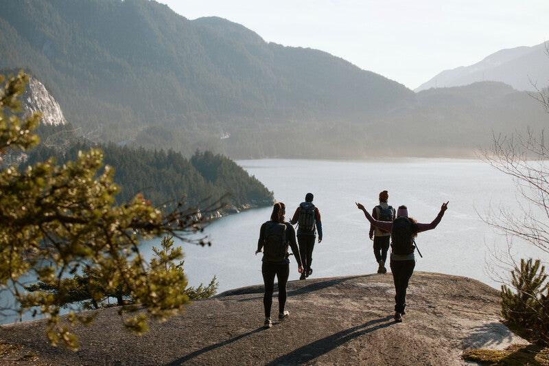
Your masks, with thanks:
<instances>
[{"instance_id":1,"label":"hiker with both arms raised, wearing purple sleeves and black backpack","mask_svg":"<svg viewBox=\"0 0 549 366\"><path fill-rule=\"evenodd\" d=\"M416 265L414 258L415 242L414 238L421 231L432 230L441 222L444 211L446 211L448 202L443 203L441 211L430 224L420 224L411 217L408 217L408 208L399 206L397 209L397 218L393 222L374 220L372 216L364 209L360 203L355 205L364 212L364 216L369 222L391 233L391 253L390 253L390 271L393 272L393 282L395 282L395 321L401 322L402 315L406 308L406 288L408 281L414 273Z\"/></svg>"}]
</instances>

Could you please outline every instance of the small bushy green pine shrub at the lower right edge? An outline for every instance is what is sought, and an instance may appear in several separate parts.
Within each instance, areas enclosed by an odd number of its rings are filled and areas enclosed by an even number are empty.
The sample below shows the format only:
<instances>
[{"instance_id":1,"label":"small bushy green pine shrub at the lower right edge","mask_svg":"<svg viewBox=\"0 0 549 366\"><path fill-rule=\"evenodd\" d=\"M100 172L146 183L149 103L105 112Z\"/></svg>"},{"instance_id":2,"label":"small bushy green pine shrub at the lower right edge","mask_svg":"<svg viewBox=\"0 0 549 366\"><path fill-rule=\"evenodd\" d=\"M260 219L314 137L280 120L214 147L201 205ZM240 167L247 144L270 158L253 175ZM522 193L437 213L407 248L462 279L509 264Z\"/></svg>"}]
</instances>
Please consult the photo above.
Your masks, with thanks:
<instances>
[{"instance_id":1,"label":"small bushy green pine shrub at the lower right edge","mask_svg":"<svg viewBox=\"0 0 549 366\"><path fill-rule=\"evenodd\" d=\"M548 289L546 279L545 266L539 260L521 259L520 268L511 272L513 289L502 285L502 316L509 325L525 330L530 338L537 338L535 329L543 319L542 295Z\"/></svg>"}]
</instances>

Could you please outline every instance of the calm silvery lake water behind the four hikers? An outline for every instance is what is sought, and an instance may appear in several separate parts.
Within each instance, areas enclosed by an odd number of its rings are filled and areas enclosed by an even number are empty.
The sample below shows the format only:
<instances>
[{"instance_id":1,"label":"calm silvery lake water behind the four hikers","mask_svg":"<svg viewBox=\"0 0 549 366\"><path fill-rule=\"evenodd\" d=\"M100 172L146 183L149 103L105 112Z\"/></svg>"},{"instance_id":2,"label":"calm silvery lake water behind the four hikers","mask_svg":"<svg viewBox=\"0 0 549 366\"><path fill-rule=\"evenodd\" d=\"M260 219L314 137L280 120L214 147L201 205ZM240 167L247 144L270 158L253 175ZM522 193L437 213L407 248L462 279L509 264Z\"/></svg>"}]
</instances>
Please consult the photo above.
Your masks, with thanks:
<instances>
[{"instance_id":1,"label":"calm silvery lake water behind the four hikers","mask_svg":"<svg viewBox=\"0 0 549 366\"><path fill-rule=\"evenodd\" d=\"M382 190L388 190L394 207L407 205L410 216L431 222L441 204L448 210L436 229L420 233L417 244L423 258L417 271L432 271L478 279L490 286L500 284L487 271L489 249L506 249L480 219L487 208L500 204L516 207L515 186L508 176L480 161L456 159L409 159L406 161L342 162L262 159L238 161L251 175L286 204L288 216L314 193L323 222L323 242L316 244L312 267L314 277L375 273L377 263L369 240L369 223L355 201L369 210L377 205ZM222 218L207 229L211 247L183 244L189 284L209 283L218 277L219 292L262 284L261 255L254 255L261 223L271 207L253 209ZM288 218L289 219L289 218ZM143 243L147 252L150 244ZM515 244L517 258L539 256L530 246ZM150 251L148 252L150 255ZM292 259L290 280L298 279Z\"/></svg>"}]
</instances>

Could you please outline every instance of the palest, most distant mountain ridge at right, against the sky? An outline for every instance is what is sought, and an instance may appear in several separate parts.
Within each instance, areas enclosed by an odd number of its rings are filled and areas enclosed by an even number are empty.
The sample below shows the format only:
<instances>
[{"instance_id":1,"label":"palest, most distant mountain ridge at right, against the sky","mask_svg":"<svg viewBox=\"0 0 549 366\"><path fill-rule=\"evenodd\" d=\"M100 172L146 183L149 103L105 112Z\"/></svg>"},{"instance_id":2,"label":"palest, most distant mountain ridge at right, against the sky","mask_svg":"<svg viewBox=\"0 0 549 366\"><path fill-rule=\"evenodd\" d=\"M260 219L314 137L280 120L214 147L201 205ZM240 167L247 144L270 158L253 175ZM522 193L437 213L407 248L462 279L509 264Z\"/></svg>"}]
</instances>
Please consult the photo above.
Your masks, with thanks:
<instances>
[{"instance_id":1,"label":"palest, most distant mountain ridge at right, against the sky","mask_svg":"<svg viewBox=\"0 0 549 366\"><path fill-rule=\"evenodd\" d=\"M414 91L459 87L480 81L499 81L519 91L535 91L533 84L539 89L548 85L548 57L546 43L502 49L474 65L443 71Z\"/></svg>"}]
</instances>

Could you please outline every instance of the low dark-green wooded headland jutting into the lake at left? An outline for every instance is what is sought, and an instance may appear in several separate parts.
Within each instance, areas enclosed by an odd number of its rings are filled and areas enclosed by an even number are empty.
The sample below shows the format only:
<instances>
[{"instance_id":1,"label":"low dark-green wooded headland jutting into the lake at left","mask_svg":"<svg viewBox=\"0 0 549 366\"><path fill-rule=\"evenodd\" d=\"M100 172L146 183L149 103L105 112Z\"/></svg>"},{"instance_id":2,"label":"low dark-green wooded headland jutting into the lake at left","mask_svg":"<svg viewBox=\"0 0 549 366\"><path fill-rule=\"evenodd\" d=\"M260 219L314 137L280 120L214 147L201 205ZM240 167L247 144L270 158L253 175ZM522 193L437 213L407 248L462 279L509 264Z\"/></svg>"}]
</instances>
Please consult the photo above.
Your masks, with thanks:
<instances>
[{"instance_id":1,"label":"low dark-green wooded headland jutting into the lake at left","mask_svg":"<svg viewBox=\"0 0 549 366\"><path fill-rule=\"evenodd\" d=\"M57 163L75 160L78 151L99 147L105 153L104 163L115 168L114 181L121 186L117 203L130 201L142 193L154 205L172 208L180 198L187 197L189 205L218 200L232 210L242 207L270 205L272 192L255 177L249 176L235 162L211 152L196 152L191 160L174 150L132 149L127 146L91 144L78 139L72 126L40 126L37 130L43 143L31 150L24 165L34 165L54 157ZM62 147L62 148L60 148Z\"/></svg>"}]
</instances>

